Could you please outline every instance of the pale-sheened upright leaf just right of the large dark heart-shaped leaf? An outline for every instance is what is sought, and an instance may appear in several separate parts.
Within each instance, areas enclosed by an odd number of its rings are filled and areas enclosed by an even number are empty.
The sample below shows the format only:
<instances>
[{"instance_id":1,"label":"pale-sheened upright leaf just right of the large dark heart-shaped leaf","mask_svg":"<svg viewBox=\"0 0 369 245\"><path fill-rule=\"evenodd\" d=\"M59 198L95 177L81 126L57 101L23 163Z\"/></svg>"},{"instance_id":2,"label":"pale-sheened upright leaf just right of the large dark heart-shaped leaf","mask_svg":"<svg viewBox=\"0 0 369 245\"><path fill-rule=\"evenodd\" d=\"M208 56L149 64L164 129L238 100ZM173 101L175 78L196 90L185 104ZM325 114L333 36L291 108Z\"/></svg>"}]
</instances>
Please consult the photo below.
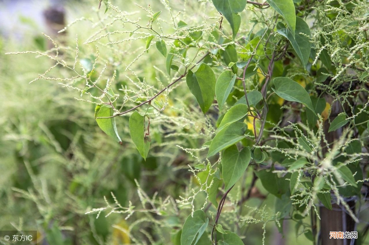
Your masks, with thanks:
<instances>
[{"instance_id":1,"label":"pale-sheened upright leaf just right of the large dark heart-shaped leaf","mask_svg":"<svg viewBox=\"0 0 369 245\"><path fill-rule=\"evenodd\" d=\"M217 97L219 111L223 109L223 105L230 95L236 80L236 74L232 71L224 71L217 79L215 84L215 96Z\"/></svg>"}]
</instances>

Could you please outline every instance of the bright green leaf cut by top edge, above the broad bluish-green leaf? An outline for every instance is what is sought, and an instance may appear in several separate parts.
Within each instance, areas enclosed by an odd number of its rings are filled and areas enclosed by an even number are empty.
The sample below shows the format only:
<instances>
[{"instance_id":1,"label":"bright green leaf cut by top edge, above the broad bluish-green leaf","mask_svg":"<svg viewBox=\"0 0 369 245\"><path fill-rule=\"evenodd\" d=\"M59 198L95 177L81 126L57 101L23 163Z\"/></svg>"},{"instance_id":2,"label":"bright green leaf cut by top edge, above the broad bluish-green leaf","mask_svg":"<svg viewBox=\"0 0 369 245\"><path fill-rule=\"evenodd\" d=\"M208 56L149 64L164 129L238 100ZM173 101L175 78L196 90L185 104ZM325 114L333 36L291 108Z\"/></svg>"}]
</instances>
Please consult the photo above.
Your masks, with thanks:
<instances>
[{"instance_id":1,"label":"bright green leaf cut by top edge, above the broad bluish-green leaf","mask_svg":"<svg viewBox=\"0 0 369 245\"><path fill-rule=\"evenodd\" d=\"M294 33L295 27L297 25L297 20L293 1L292 0L266 0L266 1L272 8L275 9L275 11L278 12L278 14L282 15L284 20L286 20L288 27L291 29L292 33Z\"/></svg>"}]
</instances>

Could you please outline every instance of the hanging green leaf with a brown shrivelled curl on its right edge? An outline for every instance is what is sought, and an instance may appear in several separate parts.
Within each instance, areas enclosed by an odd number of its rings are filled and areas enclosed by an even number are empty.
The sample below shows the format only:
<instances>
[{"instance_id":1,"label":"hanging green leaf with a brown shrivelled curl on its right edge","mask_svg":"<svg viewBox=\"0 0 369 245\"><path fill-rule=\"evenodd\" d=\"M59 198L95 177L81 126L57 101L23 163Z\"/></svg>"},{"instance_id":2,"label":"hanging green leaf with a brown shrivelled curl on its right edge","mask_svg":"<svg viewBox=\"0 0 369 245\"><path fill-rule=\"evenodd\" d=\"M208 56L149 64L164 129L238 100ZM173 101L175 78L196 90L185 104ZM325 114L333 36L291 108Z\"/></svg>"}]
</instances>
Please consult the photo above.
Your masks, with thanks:
<instances>
[{"instance_id":1,"label":"hanging green leaf with a brown shrivelled curl on its right edge","mask_svg":"<svg viewBox=\"0 0 369 245\"><path fill-rule=\"evenodd\" d=\"M150 141L145 138L145 117L134 111L129 120L130 134L139 154L145 159L149 153Z\"/></svg>"}]
</instances>

